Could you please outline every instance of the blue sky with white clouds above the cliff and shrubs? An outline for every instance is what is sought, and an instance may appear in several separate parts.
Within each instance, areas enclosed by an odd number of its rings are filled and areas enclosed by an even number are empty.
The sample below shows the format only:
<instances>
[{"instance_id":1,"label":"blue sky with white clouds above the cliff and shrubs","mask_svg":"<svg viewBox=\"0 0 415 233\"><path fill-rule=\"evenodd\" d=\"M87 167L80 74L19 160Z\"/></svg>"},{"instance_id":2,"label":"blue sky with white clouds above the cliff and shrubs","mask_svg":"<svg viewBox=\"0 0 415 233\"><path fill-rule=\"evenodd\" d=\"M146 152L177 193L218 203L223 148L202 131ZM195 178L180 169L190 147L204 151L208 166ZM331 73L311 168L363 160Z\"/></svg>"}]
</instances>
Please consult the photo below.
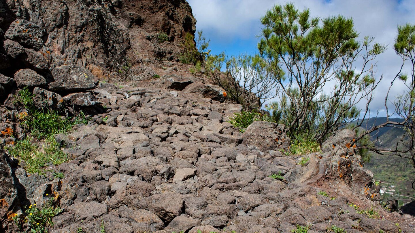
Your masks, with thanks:
<instances>
[{"instance_id":1,"label":"blue sky with white clouds above the cliff and shrubs","mask_svg":"<svg viewBox=\"0 0 415 233\"><path fill-rule=\"evenodd\" d=\"M227 52L230 55L255 53L261 33L260 18L278 0L188 0L197 20L196 29L203 30L209 38L212 53ZM295 0L300 10L309 8L313 17L344 15L354 19L360 36L375 36L375 40L388 46L378 56L377 76L383 75L376 98L371 104L372 112L383 111L384 95L388 83L400 66L401 60L393 51L393 41L398 24L415 24L415 0ZM403 90L403 83L392 89L392 95ZM363 105L361 106L363 107ZM381 115L380 113L380 115Z\"/></svg>"}]
</instances>

